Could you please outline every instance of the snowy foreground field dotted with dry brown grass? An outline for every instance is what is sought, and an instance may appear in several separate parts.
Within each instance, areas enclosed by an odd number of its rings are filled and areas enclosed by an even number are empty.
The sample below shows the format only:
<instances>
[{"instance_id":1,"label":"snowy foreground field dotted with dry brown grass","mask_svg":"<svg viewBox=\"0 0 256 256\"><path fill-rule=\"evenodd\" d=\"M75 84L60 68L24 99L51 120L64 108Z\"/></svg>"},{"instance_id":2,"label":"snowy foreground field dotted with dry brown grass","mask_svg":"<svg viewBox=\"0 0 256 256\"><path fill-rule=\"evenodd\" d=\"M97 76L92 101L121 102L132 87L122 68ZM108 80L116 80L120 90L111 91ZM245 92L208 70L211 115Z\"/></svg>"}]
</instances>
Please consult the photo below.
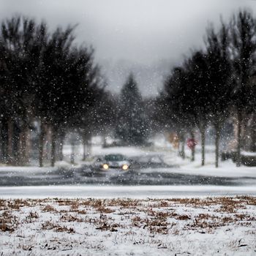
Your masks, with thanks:
<instances>
[{"instance_id":1,"label":"snowy foreground field dotted with dry brown grass","mask_svg":"<svg viewBox=\"0 0 256 256\"><path fill-rule=\"evenodd\" d=\"M0 200L0 255L255 255L256 197Z\"/></svg>"}]
</instances>

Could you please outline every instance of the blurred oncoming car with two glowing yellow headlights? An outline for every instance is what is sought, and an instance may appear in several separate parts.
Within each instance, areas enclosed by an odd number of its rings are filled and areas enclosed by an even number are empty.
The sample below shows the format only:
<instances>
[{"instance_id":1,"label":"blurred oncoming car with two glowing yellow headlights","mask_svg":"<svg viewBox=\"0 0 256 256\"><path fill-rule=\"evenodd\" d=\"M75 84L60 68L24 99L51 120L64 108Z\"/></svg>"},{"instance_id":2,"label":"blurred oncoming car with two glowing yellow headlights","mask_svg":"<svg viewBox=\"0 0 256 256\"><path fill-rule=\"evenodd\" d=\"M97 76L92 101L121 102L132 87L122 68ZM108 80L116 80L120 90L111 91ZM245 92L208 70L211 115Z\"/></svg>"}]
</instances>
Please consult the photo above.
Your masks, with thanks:
<instances>
[{"instance_id":1,"label":"blurred oncoming car with two glowing yellow headlights","mask_svg":"<svg viewBox=\"0 0 256 256\"><path fill-rule=\"evenodd\" d=\"M94 168L99 170L128 170L130 162L122 154L106 154L103 157L97 157L94 162Z\"/></svg>"}]
</instances>

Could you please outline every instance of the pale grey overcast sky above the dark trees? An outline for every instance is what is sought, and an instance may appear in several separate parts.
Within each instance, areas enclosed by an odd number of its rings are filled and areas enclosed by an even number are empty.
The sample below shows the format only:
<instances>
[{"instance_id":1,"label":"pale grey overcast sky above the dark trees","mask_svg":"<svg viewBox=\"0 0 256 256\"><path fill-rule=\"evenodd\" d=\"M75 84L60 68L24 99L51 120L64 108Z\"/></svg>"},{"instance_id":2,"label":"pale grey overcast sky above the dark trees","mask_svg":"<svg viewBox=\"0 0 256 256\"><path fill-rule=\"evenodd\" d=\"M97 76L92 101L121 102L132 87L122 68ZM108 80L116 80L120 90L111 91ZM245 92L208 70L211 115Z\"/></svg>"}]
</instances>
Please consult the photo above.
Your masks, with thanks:
<instances>
[{"instance_id":1,"label":"pale grey overcast sky above the dark trees","mask_svg":"<svg viewBox=\"0 0 256 256\"><path fill-rule=\"evenodd\" d=\"M78 23L78 42L93 45L110 89L133 71L143 94L153 95L170 65L203 44L208 22L218 26L220 15L241 7L256 13L254 0L0 0L0 19L18 13L50 28Z\"/></svg>"}]
</instances>

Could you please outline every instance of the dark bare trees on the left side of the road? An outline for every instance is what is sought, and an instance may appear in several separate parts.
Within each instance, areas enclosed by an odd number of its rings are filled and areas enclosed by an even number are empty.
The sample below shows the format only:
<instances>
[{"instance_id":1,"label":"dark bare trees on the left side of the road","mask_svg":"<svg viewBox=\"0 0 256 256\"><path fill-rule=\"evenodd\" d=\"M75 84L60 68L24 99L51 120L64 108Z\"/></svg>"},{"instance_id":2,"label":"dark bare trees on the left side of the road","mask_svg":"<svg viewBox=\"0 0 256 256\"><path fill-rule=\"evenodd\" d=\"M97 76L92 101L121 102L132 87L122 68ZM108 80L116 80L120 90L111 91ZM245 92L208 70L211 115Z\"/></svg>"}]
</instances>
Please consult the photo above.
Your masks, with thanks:
<instances>
[{"instance_id":1,"label":"dark bare trees on the left side of the road","mask_svg":"<svg viewBox=\"0 0 256 256\"><path fill-rule=\"evenodd\" d=\"M19 16L1 23L1 162L28 162L30 136L36 130L39 165L47 138L54 165L56 156L62 159L70 129L78 130L86 143L91 129L108 121L105 114L111 102L94 63L94 50L74 44L74 29L50 32L46 23Z\"/></svg>"}]
</instances>

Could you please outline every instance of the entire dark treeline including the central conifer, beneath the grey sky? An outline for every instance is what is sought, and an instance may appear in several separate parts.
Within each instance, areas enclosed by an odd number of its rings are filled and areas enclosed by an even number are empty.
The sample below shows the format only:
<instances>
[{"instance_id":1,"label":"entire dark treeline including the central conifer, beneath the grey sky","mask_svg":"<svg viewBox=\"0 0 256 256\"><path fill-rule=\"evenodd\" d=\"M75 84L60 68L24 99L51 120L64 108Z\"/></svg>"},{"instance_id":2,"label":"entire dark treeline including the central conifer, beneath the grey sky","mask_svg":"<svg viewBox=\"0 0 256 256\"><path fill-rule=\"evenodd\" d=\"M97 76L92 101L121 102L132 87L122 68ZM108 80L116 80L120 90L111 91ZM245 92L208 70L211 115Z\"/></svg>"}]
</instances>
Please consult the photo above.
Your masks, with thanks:
<instances>
[{"instance_id":1,"label":"entire dark treeline including the central conifer, beneath the grey sky","mask_svg":"<svg viewBox=\"0 0 256 256\"><path fill-rule=\"evenodd\" d=\"M19 16L1 23L1 162L26 164L31 146L37 146L42 166L50 140L54 165L63 159L65 136L74 131L83 141L83 159L94 134L115 135L122 145L138 146L154 132L164 131L178 134L185 157L186 136L194 138L199 130L204 165L206 130L211 126L218 166L227 120L236 128L237 165L241 148L256 151L256 21L251 12L239 11L229 23L221 21L218 30L208 26L203 49L192 50L174 67L152 99L141 97L129 74L119 97L106 91L93 48L76 45L74 29L50 31L44 22Z\"/></svg>"}]
</instances>

